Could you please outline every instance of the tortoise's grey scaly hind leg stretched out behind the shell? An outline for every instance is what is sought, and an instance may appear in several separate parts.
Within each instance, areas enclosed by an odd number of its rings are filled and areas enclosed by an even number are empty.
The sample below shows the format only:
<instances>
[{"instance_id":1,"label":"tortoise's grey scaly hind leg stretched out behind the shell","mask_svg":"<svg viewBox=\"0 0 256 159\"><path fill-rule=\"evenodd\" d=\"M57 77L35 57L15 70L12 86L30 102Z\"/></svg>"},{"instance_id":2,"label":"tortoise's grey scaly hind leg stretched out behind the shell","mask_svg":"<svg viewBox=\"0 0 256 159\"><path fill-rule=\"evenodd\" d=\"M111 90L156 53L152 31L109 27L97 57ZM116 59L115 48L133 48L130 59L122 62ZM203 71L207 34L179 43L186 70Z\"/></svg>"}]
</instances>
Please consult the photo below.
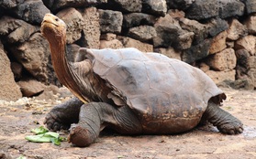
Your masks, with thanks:
<instances>
[{"instance_id":1,"label":"tortoise's grey scaly hind leg stretched out behind the shell","mask_svg":"<svg viewBox=\"0 0 256 159\"><path fill-rule=\"evenodd\" d=\"M211 101L208 102L203 119L217 126L219 132L227 134L238 134L243 132L242 123L236 117L227 111L222 110L219 106Z\"/></svg>"}]
</instances>

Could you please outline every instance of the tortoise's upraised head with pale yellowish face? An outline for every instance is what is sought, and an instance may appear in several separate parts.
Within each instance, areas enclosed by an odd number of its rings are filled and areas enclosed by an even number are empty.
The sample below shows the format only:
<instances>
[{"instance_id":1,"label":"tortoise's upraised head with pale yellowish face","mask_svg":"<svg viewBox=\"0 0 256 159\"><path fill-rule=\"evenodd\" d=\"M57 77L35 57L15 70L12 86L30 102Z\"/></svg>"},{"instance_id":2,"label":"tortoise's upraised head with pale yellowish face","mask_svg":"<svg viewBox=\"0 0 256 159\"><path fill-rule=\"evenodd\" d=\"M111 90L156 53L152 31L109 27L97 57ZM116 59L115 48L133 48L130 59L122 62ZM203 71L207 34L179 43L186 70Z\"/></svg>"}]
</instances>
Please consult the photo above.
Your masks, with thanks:
<instances>
[{"instance_id":1,"label":"tortoise's upraised head with pale yellowish face","mask_svg":"<svg viewBox=\"0 0 256 159\"><path fill-rule=\"evenodd\" d=\"M46 14L41 23L41 34L51 43L53 40L66 39L66 24L59 17Z\"/></svg>"}]
</instances>

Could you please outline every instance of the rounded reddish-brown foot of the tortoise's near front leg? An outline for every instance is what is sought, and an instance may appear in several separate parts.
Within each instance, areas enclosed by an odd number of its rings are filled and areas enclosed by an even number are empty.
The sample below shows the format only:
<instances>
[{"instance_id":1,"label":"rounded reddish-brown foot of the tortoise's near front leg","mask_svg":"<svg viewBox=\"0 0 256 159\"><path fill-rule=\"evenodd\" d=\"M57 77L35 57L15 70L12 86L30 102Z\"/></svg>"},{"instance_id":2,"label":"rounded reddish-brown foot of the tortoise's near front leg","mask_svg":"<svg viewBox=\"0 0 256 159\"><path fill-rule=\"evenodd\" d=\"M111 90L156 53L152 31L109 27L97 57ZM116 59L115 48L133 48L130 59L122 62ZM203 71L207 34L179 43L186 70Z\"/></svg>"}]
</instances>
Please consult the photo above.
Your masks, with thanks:
<instances>
[{"instance_id":1,"label":"rounded reddish-brown foot of the tortoise's near front leg","mask_svg":"<svg viewBox=\"0 0 256 159\"><path fill-rule=\"evenodd\" d=\"M78 124L72 124L71 132L68 136L68 142L75 146L85 147L95 142L95 137L91 133Z\"/></svg>"}]
</instances>

